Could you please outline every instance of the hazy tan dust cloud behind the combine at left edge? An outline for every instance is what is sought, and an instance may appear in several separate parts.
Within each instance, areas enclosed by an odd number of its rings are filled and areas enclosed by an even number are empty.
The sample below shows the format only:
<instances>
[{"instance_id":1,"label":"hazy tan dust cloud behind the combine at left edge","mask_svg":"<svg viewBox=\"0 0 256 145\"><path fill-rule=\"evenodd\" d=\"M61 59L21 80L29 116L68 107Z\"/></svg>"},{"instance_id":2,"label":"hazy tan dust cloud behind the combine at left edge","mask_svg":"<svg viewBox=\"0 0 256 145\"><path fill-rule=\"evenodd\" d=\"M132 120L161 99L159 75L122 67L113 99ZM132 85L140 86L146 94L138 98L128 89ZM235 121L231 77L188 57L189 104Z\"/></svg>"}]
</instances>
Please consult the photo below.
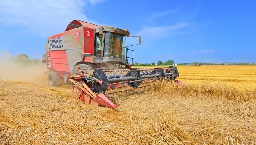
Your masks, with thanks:
<instances>
[{"instance_id":1,"label":"hazy tan dust cloud behind the combine at left edge","mask_svg":"<svg viewBox=\"0 0 256 145\"><path fill-rule=\"evenodd\" d=\"M45 71L46 64L41 60L30 60L23 54L13 57L8 51L0 50L0 80L48 85Z\"/></svg>"}]
</instances>

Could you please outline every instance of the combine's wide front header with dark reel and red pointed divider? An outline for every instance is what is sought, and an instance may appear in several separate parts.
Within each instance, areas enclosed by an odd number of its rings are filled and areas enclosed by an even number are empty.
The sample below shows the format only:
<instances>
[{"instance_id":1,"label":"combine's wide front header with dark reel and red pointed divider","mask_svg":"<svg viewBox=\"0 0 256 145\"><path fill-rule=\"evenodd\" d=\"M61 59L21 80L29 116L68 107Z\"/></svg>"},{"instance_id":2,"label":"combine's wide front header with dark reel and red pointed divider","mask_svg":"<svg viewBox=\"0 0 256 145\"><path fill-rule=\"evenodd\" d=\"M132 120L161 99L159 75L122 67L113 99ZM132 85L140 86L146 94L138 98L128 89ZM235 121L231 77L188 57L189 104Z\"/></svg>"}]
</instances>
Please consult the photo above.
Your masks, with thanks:
<instances>
[{"instance_id":1,"label":"combine's wide front header with dark reel and red pointed divider","mask_svg":"<svg viewBox=\"0 0 256 145\"><path fill-rule=\"evenodd\" d=\"M95 69L92 76L82 71L68 77L73 85L73 96L87 104L116 108L105 95L155 85L156 80L175 80L177 67ZM121 91L120 91L120 88ZM96 95L96 94L97 95Z\"/></svg>"}]
</instances>

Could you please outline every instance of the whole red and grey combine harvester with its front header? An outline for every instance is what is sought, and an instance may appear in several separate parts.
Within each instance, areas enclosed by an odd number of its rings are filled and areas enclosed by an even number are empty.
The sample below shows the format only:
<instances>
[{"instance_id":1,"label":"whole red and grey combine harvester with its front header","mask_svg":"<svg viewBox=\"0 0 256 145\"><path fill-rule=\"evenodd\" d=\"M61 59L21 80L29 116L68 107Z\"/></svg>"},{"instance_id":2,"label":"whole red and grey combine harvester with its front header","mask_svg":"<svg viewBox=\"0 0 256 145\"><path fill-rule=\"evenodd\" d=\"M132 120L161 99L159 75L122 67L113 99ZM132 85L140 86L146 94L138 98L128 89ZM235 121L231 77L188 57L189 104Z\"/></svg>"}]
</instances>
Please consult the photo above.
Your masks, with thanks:
<instances>
[{"instance_id":1,"label":"whole red and grey combine harvester with its front header","mask_svg":"<svg viewBox=\"0 0 256 145\"><path fill-rule=\"evenodd\" d=\"M45 45L48 83L70 82L73 97L87 104L116 108L105 95L154 85L156 80L175 80L176 67L139 68L133 62L134 50L125 46L130 32L110 26L97 26L80 20L70 22L63 33L47 38ZM133 57L128 57L131 51ZM139 87L140 86L140 87Z\"/></svg>"}]
</instances>

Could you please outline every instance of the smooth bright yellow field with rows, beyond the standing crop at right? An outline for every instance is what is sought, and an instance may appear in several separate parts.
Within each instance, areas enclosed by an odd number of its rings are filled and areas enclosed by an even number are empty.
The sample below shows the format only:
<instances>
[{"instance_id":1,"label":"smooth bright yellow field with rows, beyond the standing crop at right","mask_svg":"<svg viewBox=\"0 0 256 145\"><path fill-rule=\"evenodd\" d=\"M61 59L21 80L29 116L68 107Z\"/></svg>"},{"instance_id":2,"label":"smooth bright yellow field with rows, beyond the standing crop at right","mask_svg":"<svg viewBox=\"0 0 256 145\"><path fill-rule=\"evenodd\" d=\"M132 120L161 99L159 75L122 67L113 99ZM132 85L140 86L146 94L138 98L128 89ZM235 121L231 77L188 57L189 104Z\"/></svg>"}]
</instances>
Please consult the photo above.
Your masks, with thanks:
<instances>
[{"instance_id":1,"label":"smooth bright yellow field with rows, beyond the standing crop at right","mask_svg":"<svg viewBox=\"0 0 256 145\"><path fill-rule=\"evenodd\" d=\"M209 83L234 86L241 90L256 88L256 66L249 65L201 65L178 66L181 80L185 83Z\"/></svg>"}]
</instances>

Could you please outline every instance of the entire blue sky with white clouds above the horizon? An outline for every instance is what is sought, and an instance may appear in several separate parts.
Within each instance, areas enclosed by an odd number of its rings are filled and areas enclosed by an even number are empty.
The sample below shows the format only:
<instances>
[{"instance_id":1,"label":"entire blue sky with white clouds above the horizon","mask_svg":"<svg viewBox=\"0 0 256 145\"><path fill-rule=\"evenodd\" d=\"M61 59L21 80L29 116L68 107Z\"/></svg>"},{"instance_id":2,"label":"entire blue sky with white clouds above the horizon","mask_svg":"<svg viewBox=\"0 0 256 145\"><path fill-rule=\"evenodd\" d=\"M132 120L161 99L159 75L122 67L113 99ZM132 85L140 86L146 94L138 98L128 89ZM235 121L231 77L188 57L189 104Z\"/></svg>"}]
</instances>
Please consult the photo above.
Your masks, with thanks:
<instances>
[{"instance_id":1,"label":"entire blue sky with white clouds above the horizon","mask_svg":"<svg viewBox=\"0 0 256 145\"><path fill-rule=\"evenodd\" d=\"M48 36L83 20L141 35L142 44L131 47L138 63L256 61L255 6L236 0L1 0L0 50L42 59Z\"/></svg>"}]
</instances>

